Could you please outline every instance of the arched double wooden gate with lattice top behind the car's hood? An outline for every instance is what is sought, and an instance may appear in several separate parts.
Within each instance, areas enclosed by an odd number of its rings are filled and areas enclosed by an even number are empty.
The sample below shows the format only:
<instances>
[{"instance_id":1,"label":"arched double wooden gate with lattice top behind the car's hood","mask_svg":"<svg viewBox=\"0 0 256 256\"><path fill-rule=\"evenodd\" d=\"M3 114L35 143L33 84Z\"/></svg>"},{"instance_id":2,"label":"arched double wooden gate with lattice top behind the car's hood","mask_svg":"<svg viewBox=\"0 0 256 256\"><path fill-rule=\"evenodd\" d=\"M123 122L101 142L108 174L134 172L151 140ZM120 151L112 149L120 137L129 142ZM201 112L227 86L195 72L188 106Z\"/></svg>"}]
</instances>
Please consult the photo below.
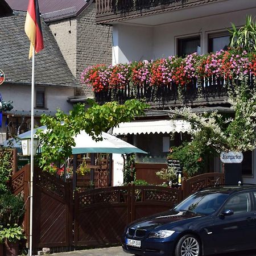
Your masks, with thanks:
<instances>
[{"instance_id":1,"label":"arched double wooden gate with lattice top behind the car's hood","mask_svg":"<svg viewBox=\"0 0 256 256\"><path fill-rule=\"evenodd\" d=\"M155 186L108 187L75 193L75 246L120 243L131 221L170 209L182 191Z\"/></svg>"}]
</instances>

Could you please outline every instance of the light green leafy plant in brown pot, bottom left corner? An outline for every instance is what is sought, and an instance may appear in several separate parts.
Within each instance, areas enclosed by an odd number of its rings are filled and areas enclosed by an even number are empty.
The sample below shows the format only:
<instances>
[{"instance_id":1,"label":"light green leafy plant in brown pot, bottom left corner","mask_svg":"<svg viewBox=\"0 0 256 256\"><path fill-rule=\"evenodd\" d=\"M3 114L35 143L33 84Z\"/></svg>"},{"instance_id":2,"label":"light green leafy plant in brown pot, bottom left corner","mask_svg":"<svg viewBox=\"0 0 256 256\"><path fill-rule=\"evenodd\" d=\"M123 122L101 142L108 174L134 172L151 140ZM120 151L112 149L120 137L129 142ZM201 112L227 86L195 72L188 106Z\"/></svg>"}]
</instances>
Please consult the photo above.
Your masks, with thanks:
<instances>
[{"instance_id":1,"label":"light green leafy plant in brown pot, bottom left corner","mask_svg":"<svg viewBox=\"0 0 256 256\"><path fill-rule=\"evenodd\" d=\"M25 238L23 229L18 224L8 224L6 228L0 226L0 240L5 242L3 255L19 255L19 241Z\"/></svg>"}]
</instances>

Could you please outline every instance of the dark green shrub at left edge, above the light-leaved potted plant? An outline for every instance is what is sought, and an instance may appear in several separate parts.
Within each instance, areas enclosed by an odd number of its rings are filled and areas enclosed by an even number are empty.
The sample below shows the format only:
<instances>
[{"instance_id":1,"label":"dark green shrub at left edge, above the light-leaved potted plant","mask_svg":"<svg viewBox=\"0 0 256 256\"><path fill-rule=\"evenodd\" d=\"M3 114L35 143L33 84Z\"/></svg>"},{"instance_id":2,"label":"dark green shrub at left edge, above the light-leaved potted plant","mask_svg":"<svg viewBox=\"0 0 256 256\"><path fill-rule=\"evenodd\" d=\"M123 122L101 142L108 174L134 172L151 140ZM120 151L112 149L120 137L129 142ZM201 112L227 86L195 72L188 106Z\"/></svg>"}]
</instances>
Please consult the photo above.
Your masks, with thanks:
<instances>
[{"instance_id":1,"label":"dark green shrub at left edge, above the light-leaved potted plant","mask_svg":"<svg viewBox=\"0 0 256 256\"><path fill-rule=\"evenodd\" d=\"M0 195L0 224L20 225L24 214L24 201L20 196L15 196L10 192Z\"/></svg>"}]
</instances>

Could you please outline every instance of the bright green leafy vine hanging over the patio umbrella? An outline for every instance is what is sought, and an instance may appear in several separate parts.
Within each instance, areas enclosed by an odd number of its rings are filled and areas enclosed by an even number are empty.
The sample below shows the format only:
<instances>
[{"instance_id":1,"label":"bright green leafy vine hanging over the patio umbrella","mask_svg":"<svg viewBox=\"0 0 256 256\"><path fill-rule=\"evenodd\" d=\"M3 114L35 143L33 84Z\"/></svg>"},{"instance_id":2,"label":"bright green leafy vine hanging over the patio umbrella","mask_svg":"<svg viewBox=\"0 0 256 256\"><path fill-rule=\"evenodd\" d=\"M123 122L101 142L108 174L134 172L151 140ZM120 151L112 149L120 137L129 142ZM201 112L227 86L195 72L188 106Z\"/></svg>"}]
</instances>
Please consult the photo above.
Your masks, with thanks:
<instances>
[{"instance_id":1,"label":"bright green leafy vine hanging over the patio umbrella","mask_svg":"<svg viewBox=\"0 0 256 256\"><path fill-rule=\"evenodd\" d=\"M57 110L56 117L42 115L41 123L47 126L47 132L38 132L42 144L38 163L43 170L47 170L51 163L60 162L72 155L72 146L75 146L73 136L79 134L80 130L100 141L102 131L118 123L129 122L137 115L143 115L144 109L148 108L147 104L138 100L129 100L123 105L117 102L91 104L87 110L84 104L76 104L69 114Z\"/></svg>"}]
</instances>

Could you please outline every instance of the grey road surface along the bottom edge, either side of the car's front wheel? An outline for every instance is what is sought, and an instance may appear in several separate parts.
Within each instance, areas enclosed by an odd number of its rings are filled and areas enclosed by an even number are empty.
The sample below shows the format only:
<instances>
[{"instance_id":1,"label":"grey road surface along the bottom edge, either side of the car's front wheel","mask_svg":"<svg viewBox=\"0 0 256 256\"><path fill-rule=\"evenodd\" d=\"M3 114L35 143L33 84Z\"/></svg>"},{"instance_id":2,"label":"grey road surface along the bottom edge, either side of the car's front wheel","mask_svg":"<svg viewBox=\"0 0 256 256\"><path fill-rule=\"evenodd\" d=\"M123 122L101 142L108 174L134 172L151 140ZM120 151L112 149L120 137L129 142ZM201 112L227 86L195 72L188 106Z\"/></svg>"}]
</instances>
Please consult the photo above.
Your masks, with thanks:
<instances>
[{"instance_id":1,"label":"grey road surface along the bottom edge, either side of the car's front wheel","mask_svg":"<svg viewBox=\"0 0 256 256\"><path fill-rule=\"evenodd\" d=\"M133 256L132 254L125 253L121 246L100 248L100 249L89 249L80 251L70 251L68 253L53 253L52 256ZM256 250L251 251L240 251L238 253L225 253L225 254L214 254L214 256L256 256Z\"/></svg>"}]
</instances>

